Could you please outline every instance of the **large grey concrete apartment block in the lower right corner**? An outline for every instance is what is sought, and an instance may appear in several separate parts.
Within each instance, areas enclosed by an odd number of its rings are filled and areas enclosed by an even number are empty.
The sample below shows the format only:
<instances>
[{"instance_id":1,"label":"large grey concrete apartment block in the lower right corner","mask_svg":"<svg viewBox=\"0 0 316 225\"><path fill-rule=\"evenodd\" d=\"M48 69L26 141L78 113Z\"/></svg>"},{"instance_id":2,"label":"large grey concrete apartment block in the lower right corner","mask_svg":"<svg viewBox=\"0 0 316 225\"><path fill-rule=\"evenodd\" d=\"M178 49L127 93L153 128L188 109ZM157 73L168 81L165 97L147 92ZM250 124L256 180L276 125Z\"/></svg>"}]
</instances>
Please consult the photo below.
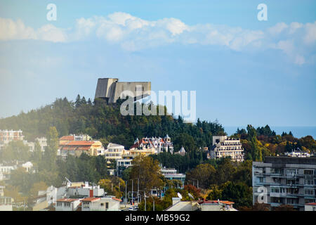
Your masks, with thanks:
<instances>
[{"instance_id":1,"label":"large grey concrete apartment block in the lower right corner","mask_svg":"<svg viewBox=\"0 0 316 225\"><path fill-rule=\"evenodd\" d=\"M253 162L253 202L304 210L316 202L316 158L265 157Z\"/></svg>"}]
</instances>

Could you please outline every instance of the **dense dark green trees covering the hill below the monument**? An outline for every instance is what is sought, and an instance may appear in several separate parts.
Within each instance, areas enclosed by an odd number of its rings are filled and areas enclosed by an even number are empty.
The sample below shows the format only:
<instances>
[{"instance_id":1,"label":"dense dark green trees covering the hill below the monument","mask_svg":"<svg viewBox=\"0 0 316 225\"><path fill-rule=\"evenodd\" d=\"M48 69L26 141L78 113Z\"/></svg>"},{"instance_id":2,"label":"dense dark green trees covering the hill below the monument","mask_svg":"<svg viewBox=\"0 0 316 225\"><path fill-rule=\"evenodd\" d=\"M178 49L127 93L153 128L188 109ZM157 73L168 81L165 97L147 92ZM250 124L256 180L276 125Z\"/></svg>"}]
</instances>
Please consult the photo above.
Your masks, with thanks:
<instances>
[{"instance_id":1,"label":"dense dark green trees covering the hill below the monument","mask_svg":"<svg viewBox=\"0 0 316 225\"><path fill-rule=\"evenodd\" d=\"M136 104L140 103L135 103L135 108ZM79 95L75 102L58 98L51 105L0 120L0 129L21 129L28 141L44 136L49 127L56 127L59 136L88 134L103 143L111 141L126 148L133 145L136 138L169 134L176 151L181 146L187 151L211 147L211 136L224 133L217 121L198 120L197 124L190 124L185 123L182 117L174 118L172 115L123 116L119 103L106 105L98 98L92 103Z\"/></svg>"}]
</instances>

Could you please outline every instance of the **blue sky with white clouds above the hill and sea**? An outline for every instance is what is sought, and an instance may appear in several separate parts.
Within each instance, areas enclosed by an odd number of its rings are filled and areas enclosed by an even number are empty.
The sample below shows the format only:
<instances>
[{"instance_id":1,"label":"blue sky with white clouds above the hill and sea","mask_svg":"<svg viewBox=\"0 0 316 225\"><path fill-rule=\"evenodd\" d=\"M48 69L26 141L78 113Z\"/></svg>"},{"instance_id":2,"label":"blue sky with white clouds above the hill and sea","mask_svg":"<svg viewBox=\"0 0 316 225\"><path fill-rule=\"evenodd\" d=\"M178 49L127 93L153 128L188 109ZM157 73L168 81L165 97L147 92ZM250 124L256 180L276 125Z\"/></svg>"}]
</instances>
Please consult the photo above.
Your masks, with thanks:
<instances>
[{"instance_id":1,"label":"blue sky with white clouds above the hill and sea","mask_svg":"<svg viewBox=\"0 0 316 225\"><path fill-rule=\"evenodd\" d=\"M57 20L46 20L46 6ZM268 6L258 21L257 6ZM0 1L0 117L99 77L197 91L225 126L316 126L315 1Z\"/></svg>"}]
</instances>

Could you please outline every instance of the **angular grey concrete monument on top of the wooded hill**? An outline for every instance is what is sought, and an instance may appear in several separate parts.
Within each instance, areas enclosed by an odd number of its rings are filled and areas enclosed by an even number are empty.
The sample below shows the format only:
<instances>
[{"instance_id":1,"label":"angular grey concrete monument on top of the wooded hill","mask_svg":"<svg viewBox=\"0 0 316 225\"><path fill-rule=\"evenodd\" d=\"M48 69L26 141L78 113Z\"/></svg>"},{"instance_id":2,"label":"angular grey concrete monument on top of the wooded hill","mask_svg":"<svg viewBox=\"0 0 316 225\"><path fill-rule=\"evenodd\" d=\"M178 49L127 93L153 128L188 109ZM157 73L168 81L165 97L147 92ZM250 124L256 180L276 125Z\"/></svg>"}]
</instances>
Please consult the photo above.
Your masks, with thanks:
<instances>
[{"instance_id":1,"label":"angular grey concrete monument on top of the wooded hill","mask_svg":"<svg viewBox=\"0 0 316 225\"><path fill-rule=\"evenodd\" d=\"M119 82L117 78L99 78L95 98L106 99L107 103L116 103L121 94L131 94L136 101L150 96L150 90L150 82Z\"/></svg>"}]
</instances>

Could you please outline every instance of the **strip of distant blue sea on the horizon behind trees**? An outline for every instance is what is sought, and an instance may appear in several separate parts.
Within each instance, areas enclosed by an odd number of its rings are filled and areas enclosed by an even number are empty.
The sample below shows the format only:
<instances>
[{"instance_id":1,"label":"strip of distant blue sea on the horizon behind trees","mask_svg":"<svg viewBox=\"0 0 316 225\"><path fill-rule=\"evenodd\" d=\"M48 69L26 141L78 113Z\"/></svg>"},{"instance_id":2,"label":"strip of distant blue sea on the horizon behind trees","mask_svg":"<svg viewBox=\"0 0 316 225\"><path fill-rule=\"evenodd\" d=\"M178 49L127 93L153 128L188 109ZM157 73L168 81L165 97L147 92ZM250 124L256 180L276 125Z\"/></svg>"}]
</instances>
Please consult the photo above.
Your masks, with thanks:
<instances>
[{"instance_id":1,"label":"strip of distant blue sea on the horizon behind trees","mask_svg":"<svg viewBox=\"0 0 316 225\"><path fill-rule=\"evenodd\" d=\"M257 127L259 127L259 126L257 126ZM264 127L264 126L260 126L260 127ZM235 134L235 132L237 131L237 128L246 129L246 127L242 127L242 126L240 126L240 127L230 127L230 126L224 127L225 132L228 135ZM303 136L310 135L310 136L312 136L313 139L316 139L316 127L273 127L273 126L270 126L270 129L272 131L275 131L275 133L277 133L279 135L281 135L283 131L287 132L287 134L289 134L289 131L291 131L293 136L296 138L301 138Z\"/></svg>"}]
</instances>

